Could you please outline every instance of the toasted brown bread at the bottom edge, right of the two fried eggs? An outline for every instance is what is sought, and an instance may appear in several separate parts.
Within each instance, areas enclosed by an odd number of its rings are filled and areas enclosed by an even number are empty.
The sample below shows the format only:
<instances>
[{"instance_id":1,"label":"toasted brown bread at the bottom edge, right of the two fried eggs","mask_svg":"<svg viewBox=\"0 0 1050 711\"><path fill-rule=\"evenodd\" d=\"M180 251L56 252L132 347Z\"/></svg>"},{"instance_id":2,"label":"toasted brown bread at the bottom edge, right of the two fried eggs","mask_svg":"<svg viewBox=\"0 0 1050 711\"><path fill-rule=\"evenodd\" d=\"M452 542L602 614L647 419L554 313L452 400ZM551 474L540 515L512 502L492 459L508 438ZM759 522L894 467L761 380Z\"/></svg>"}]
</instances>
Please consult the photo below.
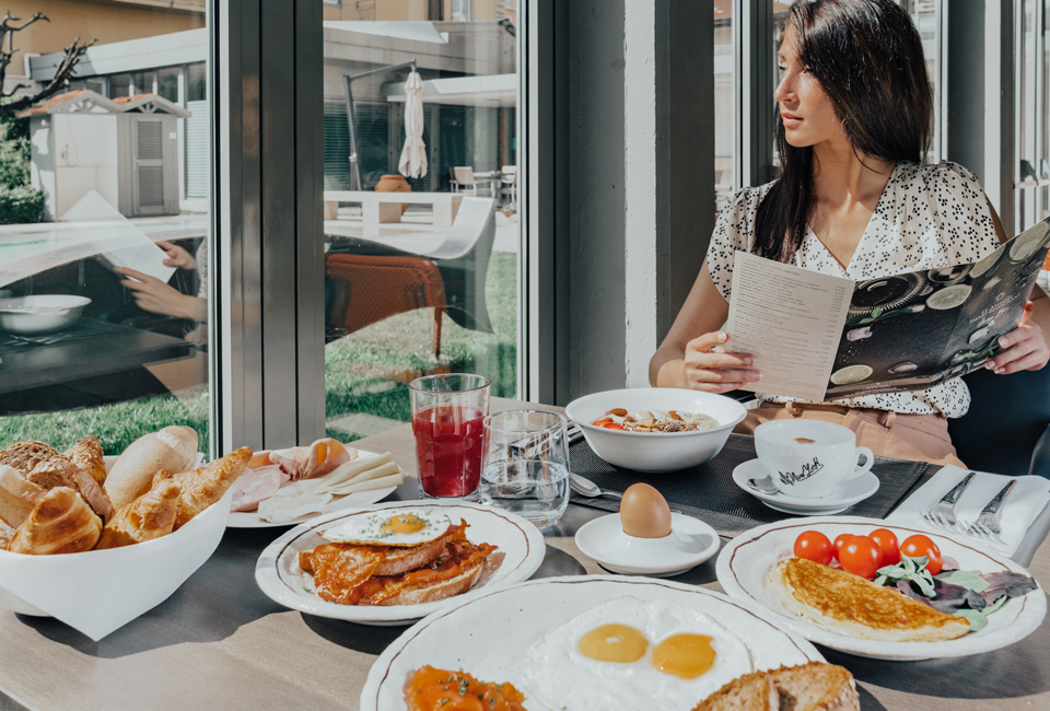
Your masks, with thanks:
<instances>
[{"instance_id":1,"label":"toasted brown bread at the bottom edge, right of the two fried eggs","mask_svg":"<svg viewBox=\"0 0 1050 711\"><path fill-rule=\"evenodd\" d=\"M841 666L809 662L733 679L693 711L860 711L853 675Z\"/></svg>"}]
</instances>

